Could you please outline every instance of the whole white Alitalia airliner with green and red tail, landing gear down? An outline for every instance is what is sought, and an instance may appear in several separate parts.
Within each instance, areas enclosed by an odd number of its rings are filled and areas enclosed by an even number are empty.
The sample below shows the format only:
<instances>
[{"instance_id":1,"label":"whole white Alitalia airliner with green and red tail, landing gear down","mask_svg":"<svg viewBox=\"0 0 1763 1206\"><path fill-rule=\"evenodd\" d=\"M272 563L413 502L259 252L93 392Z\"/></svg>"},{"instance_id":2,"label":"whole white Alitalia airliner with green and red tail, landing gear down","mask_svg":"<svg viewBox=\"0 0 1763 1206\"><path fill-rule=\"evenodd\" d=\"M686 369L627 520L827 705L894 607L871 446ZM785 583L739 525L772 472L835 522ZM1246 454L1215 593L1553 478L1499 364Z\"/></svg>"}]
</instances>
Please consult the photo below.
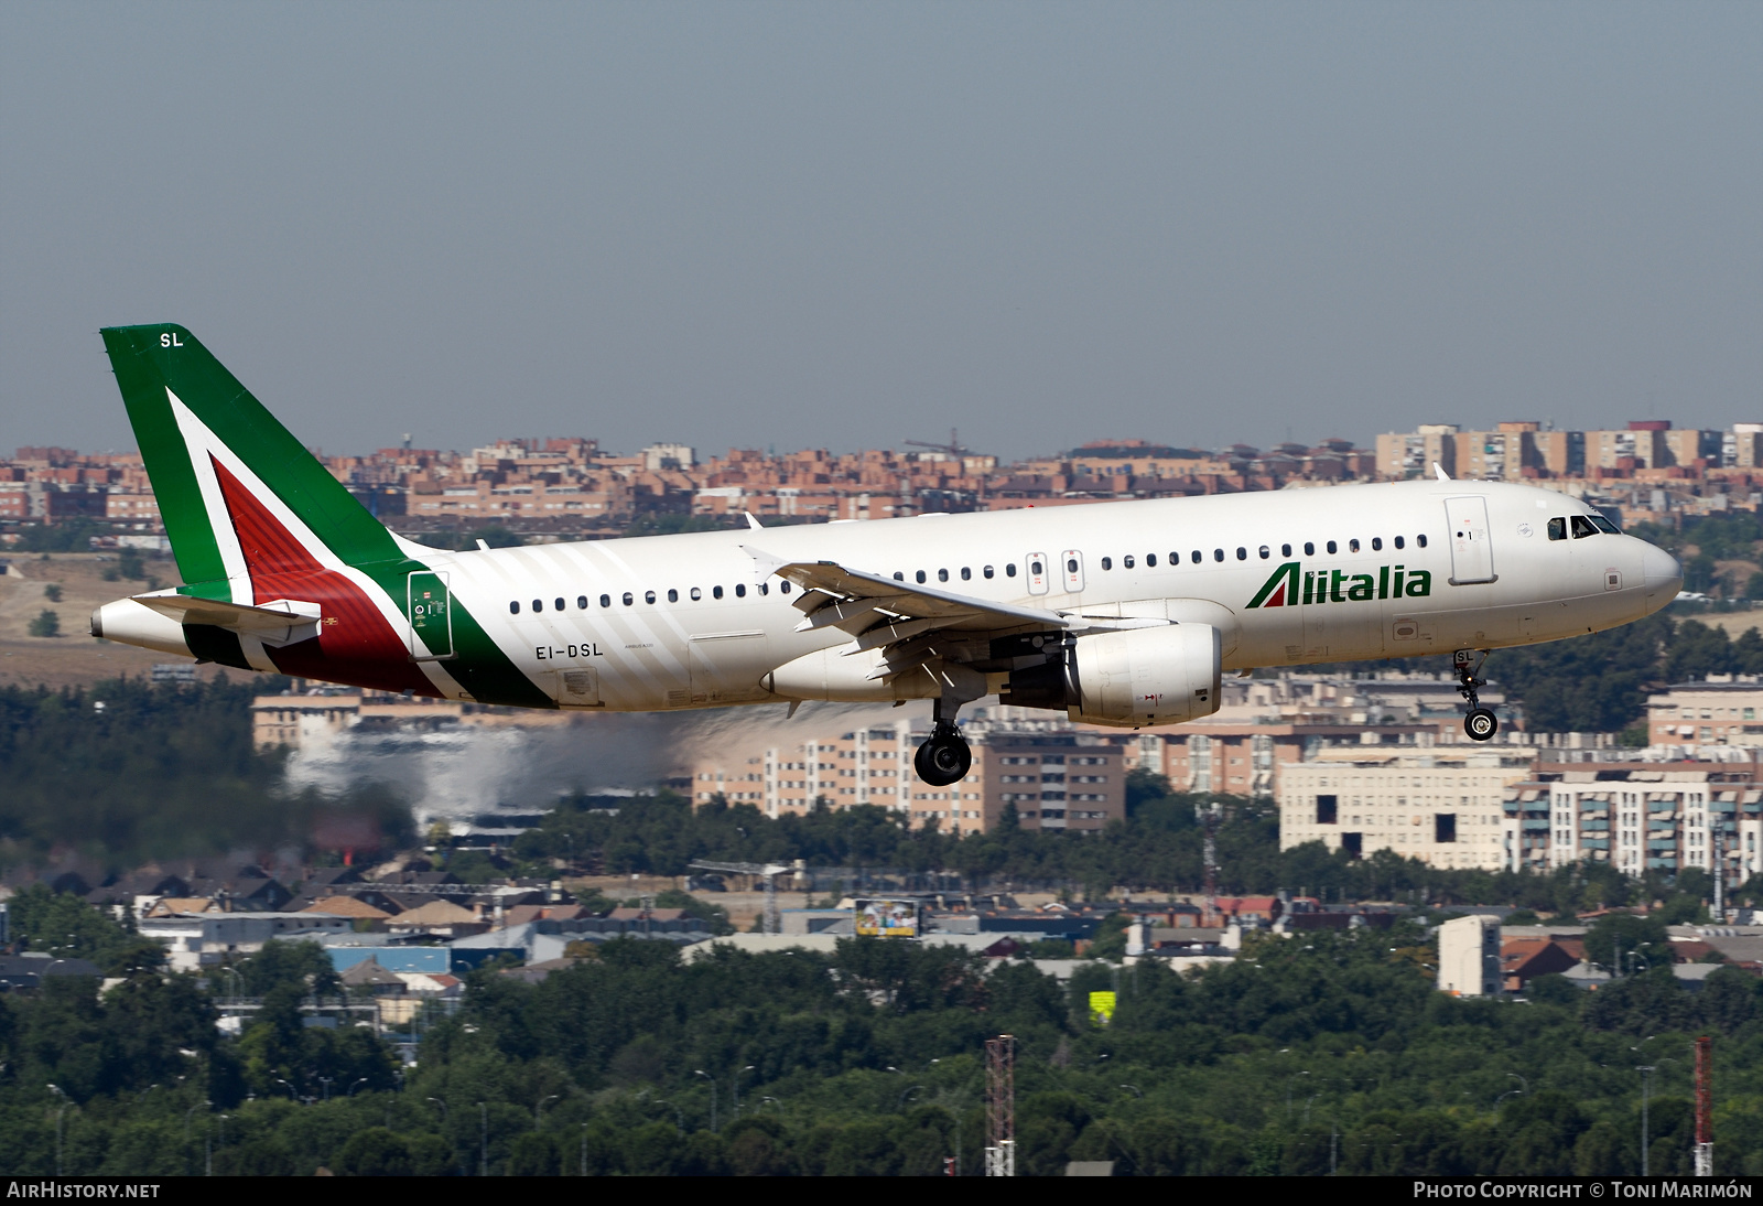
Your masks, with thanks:
<instances>
[{"instance_id":1,"label":"whole white Alitalia airliner with green and red tail, landing gear down","mask_svg":"<svg viewBox=\"0 0 1763 1206\"><path fill-rule=\"evenodd\" d=\"M1437 480L448 552L368 511L182 326L104 330L187 585L92 635L481 704L670 711L933 700L919 776L996 695L1142 728L1225 672L1490 649L1670 603L1678 562L1527 485ZM758 531L753 531L758 529Z\"/></svg>"}]
</instances>

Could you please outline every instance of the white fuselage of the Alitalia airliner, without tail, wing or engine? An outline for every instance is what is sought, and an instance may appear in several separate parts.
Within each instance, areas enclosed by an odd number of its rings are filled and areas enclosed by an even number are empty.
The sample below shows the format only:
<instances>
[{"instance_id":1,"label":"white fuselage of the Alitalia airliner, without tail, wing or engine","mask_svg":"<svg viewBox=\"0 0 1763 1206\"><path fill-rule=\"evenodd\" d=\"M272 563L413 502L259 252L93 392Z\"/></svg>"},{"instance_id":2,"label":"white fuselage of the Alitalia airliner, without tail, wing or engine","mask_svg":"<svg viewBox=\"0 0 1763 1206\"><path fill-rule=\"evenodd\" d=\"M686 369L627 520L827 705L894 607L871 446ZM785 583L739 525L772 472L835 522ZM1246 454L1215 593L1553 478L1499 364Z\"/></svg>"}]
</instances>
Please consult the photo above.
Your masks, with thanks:
<instances>
[{"instance_id":1,"label":"white fuselage of the Alitalia airliner, without tail, wing or engine","mask_svg":"<svg viewBox=\"0 0 1763 1206\"><path fill-rule=\"evenodd\" d=\"M1460 554L1446 499L1465 497L1484 501L1479 555L1491 557L1488 582L1453 584ZM931 693L911 681L876 684L867 695L772 693L772 670L848 647L850 636L795 631L802 612L790 603L799 596L785 594L777 578L760 594L762 571L748 548L899 573L910 584L922 571L934 589L1045 608L1049 617L1139 615L1148 612L1132 605L1204 601L1225 612L1224 666L1241 670L1523 645L1613 628L1670 603L1677 580L1654 573L1648 585L1648 566L1659 564L1648 554L1664 557L1652 545L1615 534L1548 540L1550 518L1585 513L1583 504L1536 487L1405 481L534 545L434 561L458 603L564 705L571 704L564 672L591 670L591 705L665 711ZM1329 541L1335 554L1326 552ZM1306 543L1313 554L1305 554ZM1179 561L1171 564L1171 554ZM1035 561L1044 570L1038 582L1031 582ZM1299 562L1298 580L1320 575L1324 601L1250 607L1269 575L1291 562ZM1426 592L1389 591L1398 566L1410 591L1426 575ZM1347 598L1347 584L1361 584L1363 596L1366 580L1377 584L1373 598ZM677 601L668 601L670 591ZM543 610L534 612L534 601Z\"/></svg>"}]
</instances>

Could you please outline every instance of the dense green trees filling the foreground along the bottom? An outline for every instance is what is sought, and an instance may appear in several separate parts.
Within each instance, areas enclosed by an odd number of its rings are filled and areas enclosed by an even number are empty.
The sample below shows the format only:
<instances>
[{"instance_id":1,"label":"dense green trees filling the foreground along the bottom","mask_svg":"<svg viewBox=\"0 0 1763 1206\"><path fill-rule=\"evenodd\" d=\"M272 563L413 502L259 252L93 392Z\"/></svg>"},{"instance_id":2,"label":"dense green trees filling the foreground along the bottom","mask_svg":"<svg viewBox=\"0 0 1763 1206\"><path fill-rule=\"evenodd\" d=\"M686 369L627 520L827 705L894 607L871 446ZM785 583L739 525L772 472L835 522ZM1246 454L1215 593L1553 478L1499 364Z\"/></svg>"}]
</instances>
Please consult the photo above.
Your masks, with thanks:
<instances>
[{"instance_id":1,"label":"dense green trees filling the foreground along the bottom","mask_svg":"<svg viewBox=\"0 0 1763 1206\"><path fill-rule=\"evenodd\" d=\"M102 998L74 979L0 998L0 1174L53 1172L58 1127L71 1174L977 1174L998 1033L1019 1042L1026 1174L1633 1174L1638 1063L1659 1068L1650 1167L1684 1174L1698 1033L1717 1171L1763 1172L1754 977L1544 977L1530 1001L1470 1001L1432 989L1430 959L1409 922L1068 984L882 940L689 964L615 940L538 986L472 973L455 1014L418 1021L398 1081L368 1030L301 1026L333 977L273 943L210 980L138 968ZM213 1024L227 984L264 998L238 1038ZM1107 1026L1098 989L1120 994Z\"/></svg>"}]
</instances>

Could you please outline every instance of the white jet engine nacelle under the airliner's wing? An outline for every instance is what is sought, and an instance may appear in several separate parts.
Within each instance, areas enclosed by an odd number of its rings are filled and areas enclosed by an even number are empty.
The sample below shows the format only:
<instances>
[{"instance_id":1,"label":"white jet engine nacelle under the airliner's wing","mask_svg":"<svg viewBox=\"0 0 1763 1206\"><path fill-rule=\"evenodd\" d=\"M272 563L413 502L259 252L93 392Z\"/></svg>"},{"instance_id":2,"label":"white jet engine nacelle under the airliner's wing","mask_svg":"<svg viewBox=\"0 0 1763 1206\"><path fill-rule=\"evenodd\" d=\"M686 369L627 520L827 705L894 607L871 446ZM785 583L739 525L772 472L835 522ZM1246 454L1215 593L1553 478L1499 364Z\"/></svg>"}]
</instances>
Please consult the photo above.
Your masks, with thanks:
<instances>
[{"instance_id":1,"label":"white jet engine nacelle under the airliner's wing","mask_svg":"<svg viewBox=\"0 0 1763 1206\"><path fill-rule=\"evenodd\" d=\"M1014 670L998 698L1060 709L1084 725L1176 725L1218 711L1218 663L1211 624L1091 633L1044 665Z\"/></svg>"}]
</instances>

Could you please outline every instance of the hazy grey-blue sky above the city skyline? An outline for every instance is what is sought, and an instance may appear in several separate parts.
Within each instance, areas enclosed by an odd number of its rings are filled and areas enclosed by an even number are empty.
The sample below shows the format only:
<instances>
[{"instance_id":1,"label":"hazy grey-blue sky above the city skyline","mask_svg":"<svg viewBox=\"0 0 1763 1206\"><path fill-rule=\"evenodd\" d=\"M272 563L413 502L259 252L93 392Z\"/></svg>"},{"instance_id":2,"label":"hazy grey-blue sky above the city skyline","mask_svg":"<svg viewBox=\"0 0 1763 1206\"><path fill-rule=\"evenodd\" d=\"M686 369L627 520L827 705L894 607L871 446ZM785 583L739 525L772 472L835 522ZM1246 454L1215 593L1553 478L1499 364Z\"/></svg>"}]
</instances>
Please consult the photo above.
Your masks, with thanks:
<instances>
[{"instance_id":1,"label":"hazy grey-blue sky above the city skyline","mask_svg":"<svg viewBox=\"0 0 1763 1206\"><path fill-rule=\"evenodd\" d=\"M0 5L0 448L1763 420L1763 5Z\"/></svg>"}]
</instances>

